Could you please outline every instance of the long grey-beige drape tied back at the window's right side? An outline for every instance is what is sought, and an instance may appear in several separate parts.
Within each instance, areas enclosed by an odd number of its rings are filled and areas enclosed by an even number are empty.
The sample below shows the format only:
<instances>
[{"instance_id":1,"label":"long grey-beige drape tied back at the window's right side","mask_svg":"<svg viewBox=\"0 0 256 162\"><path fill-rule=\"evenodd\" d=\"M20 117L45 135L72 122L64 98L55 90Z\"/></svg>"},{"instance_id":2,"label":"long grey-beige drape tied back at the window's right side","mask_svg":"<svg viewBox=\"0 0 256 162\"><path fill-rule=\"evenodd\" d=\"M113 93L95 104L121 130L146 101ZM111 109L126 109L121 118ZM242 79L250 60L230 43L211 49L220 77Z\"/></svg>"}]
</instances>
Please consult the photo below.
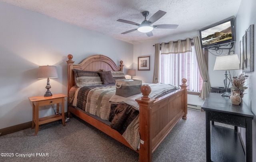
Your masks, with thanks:
<instances>
[{"instance_id":1,"label":"long grey-beige drape tied back at the window's right side","mask_svg":"<svg viewBox=\"0 0 256 162\"><path fill-rule=\"evenodd\" d=\"M193 40L194 40L194 46L195 46L195 50L196 50L196 60L198 62L198 69L199 69L200 75L203 79L202 90L201 90L199 97L202 99L205 99L208 96L209 92L211 92L208 68L206 65L206 61L204 58L204 51L201 47L199 37L193 37Z\"/></svg>"}]
</instances>

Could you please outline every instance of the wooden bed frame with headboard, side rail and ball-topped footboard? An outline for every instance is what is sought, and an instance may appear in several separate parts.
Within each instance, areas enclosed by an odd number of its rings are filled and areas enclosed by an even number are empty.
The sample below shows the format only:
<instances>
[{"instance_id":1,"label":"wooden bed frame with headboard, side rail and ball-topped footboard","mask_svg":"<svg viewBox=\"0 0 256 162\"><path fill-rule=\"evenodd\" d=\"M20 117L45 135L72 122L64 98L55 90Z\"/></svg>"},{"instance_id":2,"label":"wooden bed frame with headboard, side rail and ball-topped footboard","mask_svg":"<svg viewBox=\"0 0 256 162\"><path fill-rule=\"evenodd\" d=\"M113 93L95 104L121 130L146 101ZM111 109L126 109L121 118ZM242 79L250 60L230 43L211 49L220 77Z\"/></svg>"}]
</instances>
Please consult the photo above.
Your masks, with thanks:
<instances>
[{"instance_id":1,"label":"wooden bed frame with headboard, side rail and ball-topped footboard","mask_svg":"<svg viewBox=\"0 0 256 162\"><path fill-rule=\"evenodd\" d=\"M84 59L80 64L74 64L73 56L68 55L68 93L75 84L73 69L86 71L99 70L123 70L123 61L120 66L116 66L114 61L104 55L92 55ZM148 98L151 92L150 86L142 86L142 98L136 99L140 105L139 113L139 131L140 131L140 149L135 150L139 153L140 162L151 162L152 152L160 145L176 123L187 115L187 85L186 79L182 79L181 89L158 99ZM76 115L110 137L116 139L122 144L132 148L130 144L122 137L120 133L110 128L109 125L94 119L84 113L81 109L68 105L68 115Z\"/></svg>"}]
</instances>

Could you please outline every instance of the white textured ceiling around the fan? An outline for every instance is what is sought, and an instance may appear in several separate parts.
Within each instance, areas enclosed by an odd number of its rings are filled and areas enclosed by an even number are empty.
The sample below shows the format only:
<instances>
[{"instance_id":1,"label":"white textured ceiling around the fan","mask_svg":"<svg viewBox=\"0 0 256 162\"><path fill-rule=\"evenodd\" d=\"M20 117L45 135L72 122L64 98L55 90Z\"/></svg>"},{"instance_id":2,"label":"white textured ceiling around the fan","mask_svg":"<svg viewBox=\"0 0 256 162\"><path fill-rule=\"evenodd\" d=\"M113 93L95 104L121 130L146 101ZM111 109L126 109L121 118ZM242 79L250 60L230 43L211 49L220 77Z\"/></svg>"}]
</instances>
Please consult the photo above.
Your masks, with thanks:
<instances>
[{"instance_id":1,"label":"white textured ceiling around the fan","mask_svg":"<svg viewBox=\"0 0 256 162\"><path fill-rule=\"evenodd\" d=\"M65 21L85 29L132 44L170 35L198 31L230 16L236 16L241 0L0 0L27 10ZM158 10L167 12L153 23L177 24L177 29L154 29L154 36L124 31L136 25L116 21L124 19L141 23L143 11L149 19Z\"/></svg>"}]
</instances>

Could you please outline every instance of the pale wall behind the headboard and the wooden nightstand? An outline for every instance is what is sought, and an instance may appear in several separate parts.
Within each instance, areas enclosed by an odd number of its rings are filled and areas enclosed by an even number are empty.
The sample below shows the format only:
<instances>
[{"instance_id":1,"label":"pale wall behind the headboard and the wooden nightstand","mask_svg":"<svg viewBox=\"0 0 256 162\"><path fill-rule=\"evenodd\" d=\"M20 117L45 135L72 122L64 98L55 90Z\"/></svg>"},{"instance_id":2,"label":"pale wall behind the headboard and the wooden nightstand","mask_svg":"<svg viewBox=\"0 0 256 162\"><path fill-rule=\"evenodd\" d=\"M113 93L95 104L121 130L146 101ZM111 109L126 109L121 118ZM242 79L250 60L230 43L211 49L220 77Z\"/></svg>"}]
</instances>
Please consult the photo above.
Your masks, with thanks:
<instances>
[{"instance_id":1,"label":"pale wall behind the headboard and the wooden nightstand","mask_svg":"<svg viewBox=\"0 0 256 162\"><path fill-rule=\"evenodd\" d=\"M67 94L68 54L74 56L76 64L90 55L102 54L118 65L123 60L124 68L133 66L132 44L94 31L4 2L0 2L0 22L0 129L32 121L28 97L46 92L46 80L37 79L40 65L57 66L58 78L50 79L50 90L63 94ZM40 117L53 114L46 108L41 107Z\"/></svg>"}]
</instances>

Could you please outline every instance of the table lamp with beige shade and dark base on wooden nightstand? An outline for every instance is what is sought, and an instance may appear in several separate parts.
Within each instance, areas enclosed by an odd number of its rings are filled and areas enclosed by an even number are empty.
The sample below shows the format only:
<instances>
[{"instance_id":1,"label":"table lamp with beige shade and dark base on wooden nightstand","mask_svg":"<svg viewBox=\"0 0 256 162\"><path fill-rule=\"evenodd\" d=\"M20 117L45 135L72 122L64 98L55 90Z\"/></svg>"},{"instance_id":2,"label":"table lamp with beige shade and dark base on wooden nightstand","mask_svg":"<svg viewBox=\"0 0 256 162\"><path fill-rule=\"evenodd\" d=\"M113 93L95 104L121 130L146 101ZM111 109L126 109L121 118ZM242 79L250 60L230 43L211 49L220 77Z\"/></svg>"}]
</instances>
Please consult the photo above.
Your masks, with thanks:
<instances>
[{"instance_id":1,"label":"table lamp with beige shade and dark base on wooden nightstand","mask_svg":"<svg viewBox=\"0 0 256 162\"><path fill-rule=\"evenodd\" d=\"M56 66L39 66L38 69L38 79L45 79L47 78L47 84L46 84L46 89L47 91L45 92L44 96L52 96L52 93L50 91L50 80L49 78L58 78L58 73Z\"/></svg>"}]
</instances>

